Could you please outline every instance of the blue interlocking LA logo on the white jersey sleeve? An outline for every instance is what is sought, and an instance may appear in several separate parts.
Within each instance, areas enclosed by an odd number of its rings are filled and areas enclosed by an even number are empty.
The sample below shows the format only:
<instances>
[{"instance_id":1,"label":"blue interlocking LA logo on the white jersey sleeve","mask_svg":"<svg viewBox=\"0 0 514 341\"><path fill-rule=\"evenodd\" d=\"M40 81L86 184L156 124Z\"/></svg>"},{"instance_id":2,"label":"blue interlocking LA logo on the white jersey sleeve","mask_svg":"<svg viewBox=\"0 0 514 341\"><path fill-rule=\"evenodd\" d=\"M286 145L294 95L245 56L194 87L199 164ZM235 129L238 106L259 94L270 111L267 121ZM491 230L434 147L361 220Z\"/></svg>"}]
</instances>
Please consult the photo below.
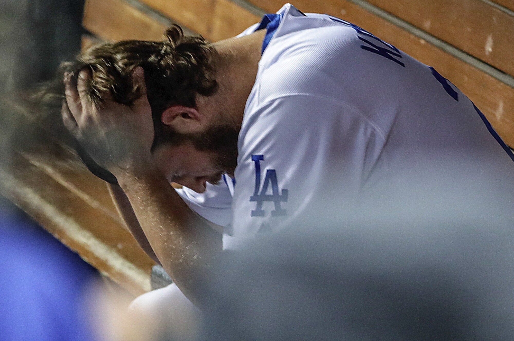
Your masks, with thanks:
<instances>
[{"instance_id":1,"label":"blue interlocking LA logo on the white jersey sleeve","mask_svg":"<svg viewBox=\"0 0 514 341\"><path fill-rule=\"evenodd\" d=\"M265 211L262 205L265 201L272 201L274 204L274 211L271 211L271 216L285 216L286 210L282 209L281 202L287 202L287 190L279 191L279 182L277 180L277 171L275 169L267 169L266 176L264 177L264 184L261 187L261 161L264 160L263 155L252 155L252 161L255 165L255 189L250 201L257 202L255 210L250 212L251 217L264 217ZM266 194L268 187L271 185L271 194Z\"/></svg>"}]
</instances>

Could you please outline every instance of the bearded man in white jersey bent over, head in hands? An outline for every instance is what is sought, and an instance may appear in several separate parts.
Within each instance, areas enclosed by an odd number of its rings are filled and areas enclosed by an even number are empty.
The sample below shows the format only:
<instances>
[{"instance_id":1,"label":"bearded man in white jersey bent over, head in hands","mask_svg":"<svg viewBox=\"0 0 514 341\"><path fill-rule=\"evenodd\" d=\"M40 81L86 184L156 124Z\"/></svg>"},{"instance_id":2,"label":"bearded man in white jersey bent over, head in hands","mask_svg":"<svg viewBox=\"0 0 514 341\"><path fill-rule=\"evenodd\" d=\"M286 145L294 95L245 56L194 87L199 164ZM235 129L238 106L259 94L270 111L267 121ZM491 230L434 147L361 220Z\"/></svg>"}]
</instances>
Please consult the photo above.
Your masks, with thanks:
<instances>
[{"instance_id":1,"label":"bearded man in white jersey bent over, head in hands","mask_svg":"<svg viewBox=\"0 0 514 341\"><path fill-rule=\"evenodd\" d=\"M214 44L176 26L166 36L64 64L62 116L90 168L117 183L136 239L198 307L223 249L294 225L327 192L350 209L431 160L487 159L514 176L462 92L351 23L286 4Z\"/></svg>"}]
</instances>

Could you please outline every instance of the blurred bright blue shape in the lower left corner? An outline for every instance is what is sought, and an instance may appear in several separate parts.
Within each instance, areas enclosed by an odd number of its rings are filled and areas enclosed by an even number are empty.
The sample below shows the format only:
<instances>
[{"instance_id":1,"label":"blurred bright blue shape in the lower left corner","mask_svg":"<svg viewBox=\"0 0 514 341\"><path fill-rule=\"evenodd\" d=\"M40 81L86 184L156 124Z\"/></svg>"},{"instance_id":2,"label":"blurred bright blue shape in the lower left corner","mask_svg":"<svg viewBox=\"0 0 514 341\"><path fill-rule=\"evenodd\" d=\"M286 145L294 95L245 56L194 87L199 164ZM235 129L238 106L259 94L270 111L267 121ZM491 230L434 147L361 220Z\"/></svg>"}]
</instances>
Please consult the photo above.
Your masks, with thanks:
<instances>
[{"instance_id":1,"label":"blurred bright blue shape in the lower left corner","mask_svg":"<svg viewBox=\"0 0 514 341\"><path fill-rule=\"evenodd\" d=\"M96 339L86 293L98 273L17 210L0 211L0 269L2 341Z\"/></svg>"}]
</instances>

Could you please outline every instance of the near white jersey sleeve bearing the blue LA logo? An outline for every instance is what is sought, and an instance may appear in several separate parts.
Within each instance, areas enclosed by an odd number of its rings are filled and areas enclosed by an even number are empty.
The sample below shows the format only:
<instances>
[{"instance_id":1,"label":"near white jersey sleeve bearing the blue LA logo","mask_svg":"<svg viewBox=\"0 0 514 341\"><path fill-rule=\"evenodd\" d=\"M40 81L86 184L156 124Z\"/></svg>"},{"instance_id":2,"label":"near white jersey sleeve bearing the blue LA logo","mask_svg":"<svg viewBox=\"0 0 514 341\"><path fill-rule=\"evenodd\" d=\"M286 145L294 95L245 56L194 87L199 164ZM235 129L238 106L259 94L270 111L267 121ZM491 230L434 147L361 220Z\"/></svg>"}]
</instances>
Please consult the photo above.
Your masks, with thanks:
<instances>
[{"instance_id":1,"label":"near white jersey sleeve bearing the blue LA logo","mask_svg":"<svg viewBox=\"0 0 514 341\"><path fill-rule=\"evenodd\" d=\"M352 205L384 144L351 105L306 94L267 101L245 121L225 249L295 224L335 191Z\"/></svg>"}]
</instances>

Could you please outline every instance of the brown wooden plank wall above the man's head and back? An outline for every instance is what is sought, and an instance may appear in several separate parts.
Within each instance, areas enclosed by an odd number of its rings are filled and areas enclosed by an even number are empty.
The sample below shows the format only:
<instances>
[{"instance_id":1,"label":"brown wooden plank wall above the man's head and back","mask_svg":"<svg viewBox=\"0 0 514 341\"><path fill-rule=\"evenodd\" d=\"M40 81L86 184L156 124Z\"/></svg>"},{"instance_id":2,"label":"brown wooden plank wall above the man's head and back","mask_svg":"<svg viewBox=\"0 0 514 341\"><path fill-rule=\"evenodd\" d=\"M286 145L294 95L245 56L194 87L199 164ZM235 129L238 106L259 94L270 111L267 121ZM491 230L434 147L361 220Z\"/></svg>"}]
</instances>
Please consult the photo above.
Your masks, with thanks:
<instances>
[{"instance_id":1,"label":"brown wooden plank wall above the man's head and back","mask_svg":"<svg viewBox=\"0 0 514 341\"><path fill-rule=\"evenodd\" d=\"M297 0L292 4L304 12L355 23L433 66L514 146L514 0ZM102 40L159 40L163 29L174 22L218 41L282 5L280 0L87 0L84 27Z\"/></svg>"}]
</instances>

